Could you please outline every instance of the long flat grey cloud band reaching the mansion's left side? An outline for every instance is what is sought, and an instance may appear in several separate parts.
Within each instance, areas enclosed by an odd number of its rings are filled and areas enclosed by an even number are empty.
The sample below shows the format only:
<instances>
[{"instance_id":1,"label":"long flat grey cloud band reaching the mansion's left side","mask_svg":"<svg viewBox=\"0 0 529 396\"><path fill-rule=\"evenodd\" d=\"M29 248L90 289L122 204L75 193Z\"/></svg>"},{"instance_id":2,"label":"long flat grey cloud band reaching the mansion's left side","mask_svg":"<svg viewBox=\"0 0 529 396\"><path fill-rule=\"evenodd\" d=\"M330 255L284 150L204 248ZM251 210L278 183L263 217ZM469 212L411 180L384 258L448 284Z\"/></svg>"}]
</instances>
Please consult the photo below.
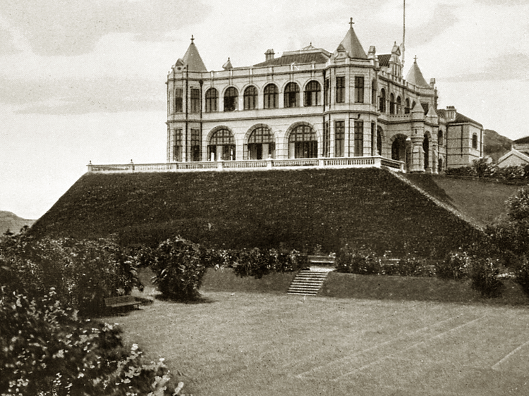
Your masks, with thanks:
<instances>
[{"instance_id":1,"label":"long flat grey cloud band reaching the mansion's left side","mask_svg":"<svg viewBox=\"0 0 529 396\"><path fill-rule=\"evenodd\" d=\"M163 81L93 77L77 80L0 80L0 103L16 113L85 114L165 109Z\"/></svg>"}]
</instances>

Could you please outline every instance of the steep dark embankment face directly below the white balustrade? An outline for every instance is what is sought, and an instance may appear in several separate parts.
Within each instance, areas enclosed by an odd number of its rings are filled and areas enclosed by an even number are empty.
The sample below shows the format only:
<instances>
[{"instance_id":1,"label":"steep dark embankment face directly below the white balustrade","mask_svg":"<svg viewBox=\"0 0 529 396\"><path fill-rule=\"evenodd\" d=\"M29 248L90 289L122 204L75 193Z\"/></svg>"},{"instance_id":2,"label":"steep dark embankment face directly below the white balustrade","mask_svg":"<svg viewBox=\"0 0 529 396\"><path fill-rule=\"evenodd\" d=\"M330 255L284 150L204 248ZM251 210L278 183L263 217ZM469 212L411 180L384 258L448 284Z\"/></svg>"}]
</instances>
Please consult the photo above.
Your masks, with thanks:
<instances>
[{"instance_id":1,"label":"steep dark embankment face directly below the white balustrade","mask_svg":"<svg viewBox=\"0 0 529 396\"><path fill-rule=\"evenodd\" d=\"M478 231L385 170L87 173L35 223L35 235L155 245L182 235L215 247L336 252L346 243L421 254Z\"/></svg>"}]
</instances>

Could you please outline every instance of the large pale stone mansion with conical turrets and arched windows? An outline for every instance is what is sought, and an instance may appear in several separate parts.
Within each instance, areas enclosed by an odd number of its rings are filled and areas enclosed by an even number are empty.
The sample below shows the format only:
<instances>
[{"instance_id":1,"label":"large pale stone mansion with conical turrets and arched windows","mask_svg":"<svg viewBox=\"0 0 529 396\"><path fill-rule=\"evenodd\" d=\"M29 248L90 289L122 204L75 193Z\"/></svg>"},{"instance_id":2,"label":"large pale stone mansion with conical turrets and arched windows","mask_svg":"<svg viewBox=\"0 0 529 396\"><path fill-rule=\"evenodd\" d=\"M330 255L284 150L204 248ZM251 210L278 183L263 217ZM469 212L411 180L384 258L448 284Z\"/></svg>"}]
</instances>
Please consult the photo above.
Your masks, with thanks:
<instances>
[{"instance_id":1,"label":"large pale stone mansion with conical turrets and arched windows","mask_svg":"<svg viewBox=\"0 0 529 396\"><path fill-rule=\"evenodd\" d=\"M482 125L438 109L417 59L404 78L399 46L366 54L352 23L333 52L268 49L261 63L217 71L192 38L166 89L167 163L382 157L439 173L483 155Z\"/></svg>"}]
</instances>

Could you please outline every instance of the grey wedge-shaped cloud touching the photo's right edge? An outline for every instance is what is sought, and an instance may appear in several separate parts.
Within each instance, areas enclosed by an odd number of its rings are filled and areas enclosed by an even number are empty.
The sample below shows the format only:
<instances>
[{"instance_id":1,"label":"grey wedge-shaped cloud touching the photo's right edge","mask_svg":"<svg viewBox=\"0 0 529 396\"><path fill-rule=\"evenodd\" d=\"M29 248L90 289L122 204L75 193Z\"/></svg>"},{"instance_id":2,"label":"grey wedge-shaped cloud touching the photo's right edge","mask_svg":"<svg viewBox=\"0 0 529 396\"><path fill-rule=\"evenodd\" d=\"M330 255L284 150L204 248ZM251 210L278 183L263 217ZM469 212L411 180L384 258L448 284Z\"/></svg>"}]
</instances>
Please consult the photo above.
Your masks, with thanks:
<instances>
[{"instance_id":1,"label":"grey wedge-shaped cloud touching the photo's right edge","mask_svg":"<svg viewBox=\"0 0 529 396\"><path fill-rule=\"evenodd\" d=\"M515 54L503 54L492 58L475 73L466 73L454 77L443 78L446 82L466 82L466 81L505 81L505 80L525 80L527 76L527 65L529 56L521 52ZM439 79L441 80L441 79Z\"/></svg>"}]
</instances>

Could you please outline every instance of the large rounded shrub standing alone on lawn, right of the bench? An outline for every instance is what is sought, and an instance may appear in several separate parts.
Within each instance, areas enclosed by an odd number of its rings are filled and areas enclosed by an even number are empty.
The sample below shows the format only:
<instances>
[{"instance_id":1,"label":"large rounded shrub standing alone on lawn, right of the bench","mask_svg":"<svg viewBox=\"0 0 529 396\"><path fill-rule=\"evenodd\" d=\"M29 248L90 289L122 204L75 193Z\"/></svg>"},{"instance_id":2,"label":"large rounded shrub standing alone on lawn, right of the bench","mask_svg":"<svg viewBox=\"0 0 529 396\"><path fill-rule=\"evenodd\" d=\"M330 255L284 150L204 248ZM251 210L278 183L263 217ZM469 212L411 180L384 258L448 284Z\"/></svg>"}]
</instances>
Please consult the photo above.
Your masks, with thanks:
<instances>
[{"instance_id":1,"label":"large rounded shrub standing alone on lawn, right of the bench","mask_svg":"<svg viewBox=\"0 0 529 396\"><path fill-rule=\"evenodd\" d=\"M193 301L206 273L207 261L199 245L181 237L162 242L154 252L153 283L166 298Z\"/></svg>"}]
</instances>

